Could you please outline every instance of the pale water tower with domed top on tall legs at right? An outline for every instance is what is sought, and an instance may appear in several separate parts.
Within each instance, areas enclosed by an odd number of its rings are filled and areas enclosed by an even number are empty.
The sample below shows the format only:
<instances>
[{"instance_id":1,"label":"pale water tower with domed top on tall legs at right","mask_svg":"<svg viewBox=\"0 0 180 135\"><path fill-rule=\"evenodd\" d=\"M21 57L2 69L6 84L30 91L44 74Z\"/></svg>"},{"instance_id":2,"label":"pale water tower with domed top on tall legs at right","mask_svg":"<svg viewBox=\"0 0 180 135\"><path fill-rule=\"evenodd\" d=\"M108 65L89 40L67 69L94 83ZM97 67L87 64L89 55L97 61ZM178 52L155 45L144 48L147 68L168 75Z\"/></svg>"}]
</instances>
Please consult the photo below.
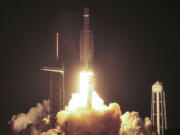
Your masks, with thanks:
<instances>
[{"instance_id":1,"label":"pale water tower with domed top on tall legs at right","mask_svg":"<svg viewBox=\"0 0 180 135\"><path fill-rule=\"evenodd\" d=\"M164 129L167 129L165 93L159 81L152 86L151 120L158 135L164 135Z\"/></svg>"}]
</instances>

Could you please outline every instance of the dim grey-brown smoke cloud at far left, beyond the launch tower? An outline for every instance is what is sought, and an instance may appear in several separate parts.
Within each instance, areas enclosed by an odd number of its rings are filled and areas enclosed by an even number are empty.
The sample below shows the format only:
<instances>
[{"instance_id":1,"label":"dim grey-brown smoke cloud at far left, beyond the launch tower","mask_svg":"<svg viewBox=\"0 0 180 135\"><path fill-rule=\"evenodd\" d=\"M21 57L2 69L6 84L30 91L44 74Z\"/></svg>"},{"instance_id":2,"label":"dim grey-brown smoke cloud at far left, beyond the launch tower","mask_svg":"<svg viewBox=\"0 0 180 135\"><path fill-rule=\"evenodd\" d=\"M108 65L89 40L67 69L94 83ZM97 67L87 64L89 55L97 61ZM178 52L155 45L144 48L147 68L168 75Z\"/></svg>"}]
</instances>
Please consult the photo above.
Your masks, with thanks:
<instances>
[{"instance_id":1,"label":"dim grey-brown smoke cloud at far left, beyond the launch tower","mask_svg":"<svg viewBox=\"0 0 180 135\"><path fill-rule=\"evenodd\" d=\"M48 119L49 111L49 100L43 100L42 103L37 103L36 107L30 108L28 113L13 115L9 124L12 125L12 129L15 132L21 132L26 128L29 129L29 125L31 125L31 132L34 135L40 134L36 129L42 128L41 124L48 124L48 120L46 119Z\"/></svg>"}]
</instances>

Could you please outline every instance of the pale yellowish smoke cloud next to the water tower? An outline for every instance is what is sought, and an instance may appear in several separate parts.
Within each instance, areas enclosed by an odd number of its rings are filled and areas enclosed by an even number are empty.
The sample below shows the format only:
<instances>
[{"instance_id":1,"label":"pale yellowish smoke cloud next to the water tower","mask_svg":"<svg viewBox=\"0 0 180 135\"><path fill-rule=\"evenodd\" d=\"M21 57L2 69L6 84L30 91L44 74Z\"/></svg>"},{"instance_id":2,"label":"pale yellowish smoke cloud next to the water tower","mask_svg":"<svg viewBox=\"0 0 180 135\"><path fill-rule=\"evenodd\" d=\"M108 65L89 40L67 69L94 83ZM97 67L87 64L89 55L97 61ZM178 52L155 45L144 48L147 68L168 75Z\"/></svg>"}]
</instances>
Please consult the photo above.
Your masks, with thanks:
<instances>
[{"instance_id":1,"label":"pale yellowish smoke cloud next to the water tower","mask_svg":"<svg viewBox=\"0 0 180 135\"><path fill-rule=\"evenodd\" d=\"M156 135L149 117L142 120L138 112L126 112L121 116L122 135Z\"/></svg>"}]
</instances>

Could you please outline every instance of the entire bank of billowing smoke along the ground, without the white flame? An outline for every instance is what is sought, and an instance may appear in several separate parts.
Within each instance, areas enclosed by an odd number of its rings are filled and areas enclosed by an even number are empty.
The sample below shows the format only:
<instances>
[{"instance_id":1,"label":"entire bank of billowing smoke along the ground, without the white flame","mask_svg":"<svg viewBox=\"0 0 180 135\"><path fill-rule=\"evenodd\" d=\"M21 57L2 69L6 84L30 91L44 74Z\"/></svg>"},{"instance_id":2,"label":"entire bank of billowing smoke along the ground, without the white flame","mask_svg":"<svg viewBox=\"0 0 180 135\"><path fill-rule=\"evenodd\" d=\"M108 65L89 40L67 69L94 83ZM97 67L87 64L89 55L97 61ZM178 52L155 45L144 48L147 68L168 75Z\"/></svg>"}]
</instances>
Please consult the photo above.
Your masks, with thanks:
<instances>
[{"instance_id":1,"label":"entire bank of billowing smoke along the ground, without the white flame","mask_svg":"<svg viewBox=\"0 0 180 135\"><path fill-rule=\"evenodd\" d=\"M66 135L84 135L91 132L93 135L156 135L150 118L142 120L138 112L126 112L121 115L117 103L112 103L101 110L87 108L76 111L63 110L57 114L55 129L42 130L42 127L48 124L49 111L49 100L44 100L26 114L13 115L9 123L15 132L25 130L26 132L22 134L30 132L31 135L58 135L59 132Z\"/></svg>"}]
</instances>

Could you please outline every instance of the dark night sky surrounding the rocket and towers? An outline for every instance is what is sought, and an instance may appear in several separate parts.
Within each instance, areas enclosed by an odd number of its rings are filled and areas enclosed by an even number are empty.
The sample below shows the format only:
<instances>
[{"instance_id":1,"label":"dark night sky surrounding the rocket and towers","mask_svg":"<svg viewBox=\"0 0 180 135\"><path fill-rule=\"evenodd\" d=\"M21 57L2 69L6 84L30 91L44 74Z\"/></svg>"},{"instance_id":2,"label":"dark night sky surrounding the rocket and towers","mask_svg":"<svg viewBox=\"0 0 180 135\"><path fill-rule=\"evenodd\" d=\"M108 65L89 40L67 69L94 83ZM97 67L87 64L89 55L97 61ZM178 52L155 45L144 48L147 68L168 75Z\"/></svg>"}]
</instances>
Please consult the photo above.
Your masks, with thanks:
<instances>
[{"instance_id":1,"label":"dark night sky surrounding the rocket and towers","mask_svg":"<svg viewBox=\"0 0 180 135\"><path fill-rule=\"evenodd\" d=\"M160 80L166 93L169 128L179 119L179 5L175 1L23 1L1 5L3 111L27 112L48 99L49 74L40 71L55 61L55 33L78 52L82 10L91 12L94 72L105 103L122 112L150 116L151 85ZM60 41L65 63L66 103L77 90L79 54Z\"/></svg>"}]
</instances>

